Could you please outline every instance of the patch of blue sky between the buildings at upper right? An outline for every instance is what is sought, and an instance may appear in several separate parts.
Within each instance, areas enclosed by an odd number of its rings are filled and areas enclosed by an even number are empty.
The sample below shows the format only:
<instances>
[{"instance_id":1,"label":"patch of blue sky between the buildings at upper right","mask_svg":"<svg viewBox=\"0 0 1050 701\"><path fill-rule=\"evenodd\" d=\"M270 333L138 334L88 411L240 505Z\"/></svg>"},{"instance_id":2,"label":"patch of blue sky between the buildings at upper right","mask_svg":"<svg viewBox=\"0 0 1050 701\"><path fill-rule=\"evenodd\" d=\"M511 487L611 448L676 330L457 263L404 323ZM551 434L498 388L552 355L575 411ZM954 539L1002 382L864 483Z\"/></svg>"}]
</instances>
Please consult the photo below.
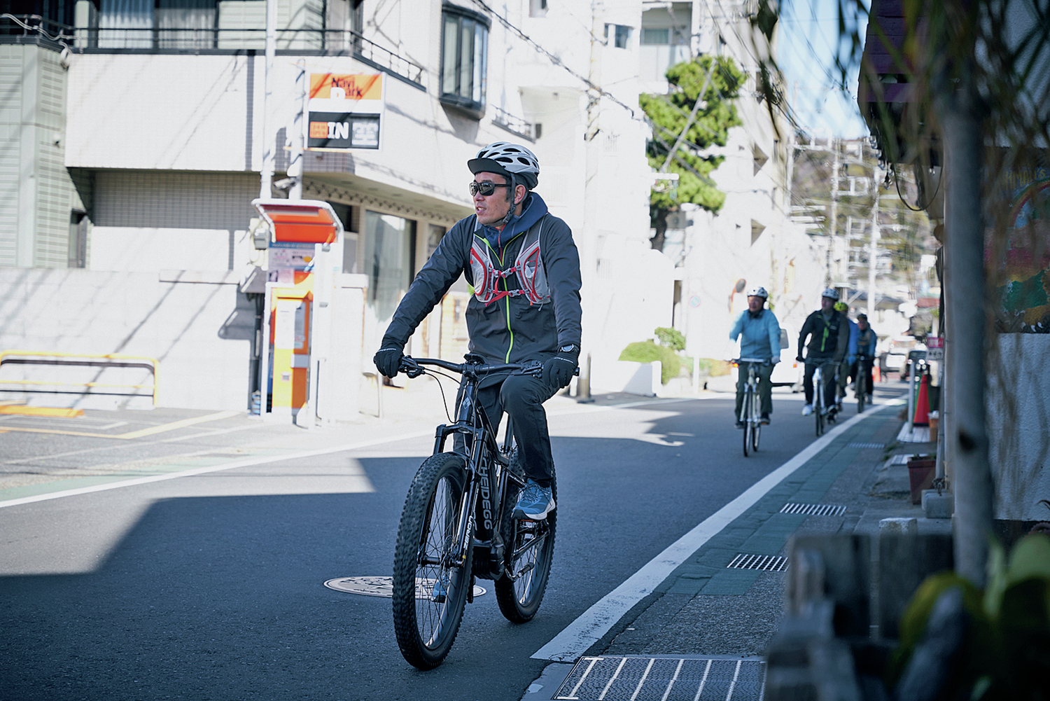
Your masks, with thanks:
<instances>
[{"instance_id":1,"label":"patch of blue sky between the buildings at upper right","mask_svg":"<svg viewBox=\"0 0 1050 701\"><path fill-rule=\"evenodd\" d=\"M777 61L798 121L815 135L867 136L857 108L857 69L848 77L848 91L836 86L833 42L838 38L838 0L786 0L781 7ZM866 18L861 37L865 27Z\"/></svg>"}]
</instances>

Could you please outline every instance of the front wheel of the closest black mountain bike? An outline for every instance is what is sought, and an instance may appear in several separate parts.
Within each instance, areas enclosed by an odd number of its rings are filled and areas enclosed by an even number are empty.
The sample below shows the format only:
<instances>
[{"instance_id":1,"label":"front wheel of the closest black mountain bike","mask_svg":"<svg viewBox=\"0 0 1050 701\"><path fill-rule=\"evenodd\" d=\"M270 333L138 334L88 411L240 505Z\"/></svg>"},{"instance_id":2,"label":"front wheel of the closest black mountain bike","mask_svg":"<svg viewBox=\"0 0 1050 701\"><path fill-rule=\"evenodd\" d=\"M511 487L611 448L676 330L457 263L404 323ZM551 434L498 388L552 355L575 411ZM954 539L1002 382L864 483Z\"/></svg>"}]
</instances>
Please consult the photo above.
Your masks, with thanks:
<instances>
[{"instance_id":1,"label":"front wheel of the closest black mountain bike","mask_svg":"<svg viewBox=\"0 0 1050 701\"><path fill-rule=\"evenodd\" d=\"M433 669L448 655L466 605L474 548L456 542L466 482L461 456L432 455L416 473L401 512L394 631L404 659L420 669Z\"/></svg>"}]
</instances>

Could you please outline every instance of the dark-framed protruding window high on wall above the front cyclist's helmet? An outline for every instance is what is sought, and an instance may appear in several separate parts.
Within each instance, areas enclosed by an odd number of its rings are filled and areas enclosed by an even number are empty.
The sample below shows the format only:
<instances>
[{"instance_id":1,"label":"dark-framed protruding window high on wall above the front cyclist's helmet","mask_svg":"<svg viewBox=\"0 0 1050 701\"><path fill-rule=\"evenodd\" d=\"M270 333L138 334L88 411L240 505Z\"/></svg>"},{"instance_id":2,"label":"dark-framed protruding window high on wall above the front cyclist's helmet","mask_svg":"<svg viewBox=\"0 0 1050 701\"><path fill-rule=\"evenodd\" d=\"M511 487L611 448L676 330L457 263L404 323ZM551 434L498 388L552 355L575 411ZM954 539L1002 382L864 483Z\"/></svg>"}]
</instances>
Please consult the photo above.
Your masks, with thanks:
<instances>
[{"instance_id":1,"label":"dark-framed protruding window high on wall above the front cyclist's helmet","mask_svg":"<svg viewBox=\"0 0 1050 701\"><path fill-rule=\"evenodd\" d=\"M484 15L444 5L441 47L441 102L475 119L485 116L489 21Z\"/></svg>"}]
</instances>

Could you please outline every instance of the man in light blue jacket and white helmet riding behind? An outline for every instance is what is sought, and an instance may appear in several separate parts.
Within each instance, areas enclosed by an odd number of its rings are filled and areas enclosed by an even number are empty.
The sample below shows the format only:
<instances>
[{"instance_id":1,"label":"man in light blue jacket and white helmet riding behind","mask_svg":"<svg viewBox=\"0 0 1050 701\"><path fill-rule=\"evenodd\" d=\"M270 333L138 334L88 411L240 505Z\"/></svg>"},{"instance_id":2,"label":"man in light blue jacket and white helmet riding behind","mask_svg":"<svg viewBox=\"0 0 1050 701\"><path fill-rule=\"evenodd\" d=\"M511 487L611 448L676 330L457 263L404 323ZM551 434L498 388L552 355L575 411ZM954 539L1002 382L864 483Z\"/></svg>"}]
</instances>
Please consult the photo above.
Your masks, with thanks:
<instances>
[{"instance_id":1,"label":"man in light blue jacket and white helmet riding behind","mask_svg":"<svg viewBox=\"0 0 1050 701\"><path fill-rule=\"evenodd\" d=\"M780 362L780 324L771 309L764 309L769 293L764 287L756 287L748 292L748 308L736 318L729 332L732 341L740 338L740 357L760 357L769 363L756 363L758 374L758 397L761 405L761 422L770 422L773 413L773 384L770 376L773 366ZM736 428L742 429L740 407L743 406L743 391L748 384L748 363L741 363L736 374Z\"/></svg>"}]
</instances>

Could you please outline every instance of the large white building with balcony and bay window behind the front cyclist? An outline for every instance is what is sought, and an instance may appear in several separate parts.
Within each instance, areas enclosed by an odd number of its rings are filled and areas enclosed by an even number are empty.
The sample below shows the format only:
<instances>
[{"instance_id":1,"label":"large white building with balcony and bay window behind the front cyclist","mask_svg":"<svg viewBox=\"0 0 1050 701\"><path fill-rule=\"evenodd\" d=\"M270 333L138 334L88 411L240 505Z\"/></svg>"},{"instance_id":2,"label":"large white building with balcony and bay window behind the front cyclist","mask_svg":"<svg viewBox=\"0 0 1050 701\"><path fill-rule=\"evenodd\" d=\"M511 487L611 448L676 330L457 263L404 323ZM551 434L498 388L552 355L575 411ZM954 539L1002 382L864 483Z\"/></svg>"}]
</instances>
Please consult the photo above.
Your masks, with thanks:
<instances>
[{"instance_id":1,"label":"large white building with balcony and bay window behind the front cyclist","mask_svg":"<svg viewBox=\"0 0 1050 701\"><path fill-rule=\"evenodd\" d=\"M302 157L302 197L331 203L348 232L335 346L317 349L350 397L337 417L356 413L413 275L470 213L465 162L491 141L536 151L537 191L573 229L585 351L618 354L670 323L670 266L648 248L638 0L596 15L583 1L276 3L266 103L266 0L79 0L71 27L0 36L20 68L0 87L22 105L0 110L0 139L20 144L0 164L0 350L148 358L154 379L121 384L152 382L163 406L247 408L265 339L246 281L267 260L251 201L267 149L278 184L288 168L300 73L381 82L377 109L348 109L354 148ZM461 357L467 294L454 287L410 351Z\"/></svg>"}]
</instances>

